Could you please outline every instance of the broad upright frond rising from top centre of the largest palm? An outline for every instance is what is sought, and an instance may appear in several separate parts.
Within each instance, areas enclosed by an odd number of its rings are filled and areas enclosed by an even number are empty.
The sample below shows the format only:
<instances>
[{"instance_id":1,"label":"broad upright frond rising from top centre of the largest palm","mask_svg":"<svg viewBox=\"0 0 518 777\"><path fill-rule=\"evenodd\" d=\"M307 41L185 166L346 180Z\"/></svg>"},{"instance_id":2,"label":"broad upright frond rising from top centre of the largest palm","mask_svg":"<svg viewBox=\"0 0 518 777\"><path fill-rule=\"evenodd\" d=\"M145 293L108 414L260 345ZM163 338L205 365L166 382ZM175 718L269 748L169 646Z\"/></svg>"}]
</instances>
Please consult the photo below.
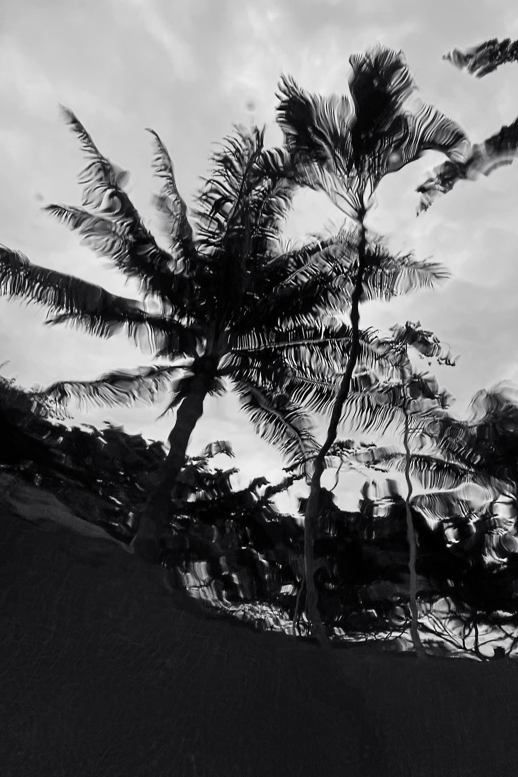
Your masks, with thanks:
<instances>
[{"instance_id":1,"label":"broad upright frond rising from top centre of the largest palm","mask_svg":"<svg viewBox=\"0 0 518 777\"><path fill-rule=\"evenodd\" d=\"M207 309L239 317L262 296L265 264L280 246L280 221L290 207L293 185L284 177L282 156L263 148L263 131L237 130L214 155L196 211ZM258 290L257 286L261 286ZM214 310L211 313L214 318Z\"/></svg>"}]
</instances>

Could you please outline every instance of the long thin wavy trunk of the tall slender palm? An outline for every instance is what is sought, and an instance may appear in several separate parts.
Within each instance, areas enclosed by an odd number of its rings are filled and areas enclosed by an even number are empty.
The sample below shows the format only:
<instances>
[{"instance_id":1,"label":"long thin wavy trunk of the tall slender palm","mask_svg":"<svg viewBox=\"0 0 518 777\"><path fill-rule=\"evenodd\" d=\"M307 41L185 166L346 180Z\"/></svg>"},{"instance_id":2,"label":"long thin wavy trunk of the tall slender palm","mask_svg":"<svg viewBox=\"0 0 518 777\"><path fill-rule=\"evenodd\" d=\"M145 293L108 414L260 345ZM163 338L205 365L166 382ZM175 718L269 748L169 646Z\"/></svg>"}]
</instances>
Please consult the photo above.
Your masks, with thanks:
<instances>
[{"instance_id":1,"label":"long thin wavy trunk of the tall slender palm","mask_svg":"<svg viewBox=\"0 0 518 777\"><path fill-rule=\"evenodd\" d=\"M308 615L308 620L311 623L311 628L314 635L318 639L318 643L325 649L331 648L331 641L325 632L322 618L320 617L320 613L318 611L318 596L315 589L315 558L313 555L313 549L315 545L315 525L318 518L318 505L320 502L321 490L320 479L325 468L325 457L328 455L329 448L331 448L333 442L336 439L339 420L342 416L343 403L346 401L346 398L349 395L351 380L353 378L353 371L356 368L358 355L360 353L360 298L363 291L363 274L365 272L366 259L366 236L365 226L363 225L364 218L365 209L362 209L359 214L360 242L358 245L358 272L356 274L353 294L351 295L351 350L349 353L349 359L347 361L346 371L343 375L342 383L340 385L339 392L336 395L335 404L332 409L328 434L325 443L322 445L322 448L315 458L315 469L313 476L311 477L311 491L304 515L304 579L306 582L306 615Z\"/></svg>"}]
</instances>

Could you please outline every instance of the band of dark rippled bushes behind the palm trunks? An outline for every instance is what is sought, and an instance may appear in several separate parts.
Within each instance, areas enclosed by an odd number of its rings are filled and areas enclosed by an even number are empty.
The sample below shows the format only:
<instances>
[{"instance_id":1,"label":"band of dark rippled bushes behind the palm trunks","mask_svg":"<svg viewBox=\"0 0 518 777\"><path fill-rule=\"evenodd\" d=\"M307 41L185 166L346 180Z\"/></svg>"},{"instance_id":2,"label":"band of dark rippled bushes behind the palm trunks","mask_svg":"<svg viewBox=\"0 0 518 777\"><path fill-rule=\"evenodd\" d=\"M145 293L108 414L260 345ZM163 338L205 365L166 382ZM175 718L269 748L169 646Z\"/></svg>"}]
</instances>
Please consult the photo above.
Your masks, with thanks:
<instances>
[{"instance_id":1,"label":"band of dark rippled bushes behind the palm trunks","mask_svg":"<svg viewBox=\"0 0 518 777\"><path fill-rule=\"evenodd\" d=\"M35 485L130 549L134 517L165 457L162 444L120 427L64 426L33 413L33 396L0 378L2 490L16 506L23 483ZM272 501L294 479L287 476L272 486L258 478L233 490L235 469L212 462L218 455L219 462L228 460L229 454L228 444L216 442L183 468L173 495L175 519L162 538L160 563L169 570L169 586L252 628L310 636L305 619L298 628L292 625L304 570L304 528ZM374 491L366 483L356 513L340 510L333 494L322 489L315 580L322 620L335 644L399 637L399 649L408 650L408 545L400 489L390 479ZM301 500L301 515L304 507ZM499 657L503 645L513 654L514 521L504 533L505 521L484 511L473 524L459 515L434 528L417 510L412 517L419 538L420 629L429 651L488 660ZM452 532L458 537L454 544ZM506 564L487 563L488 551L506 549Z\"/></svg>"}]
</instances>

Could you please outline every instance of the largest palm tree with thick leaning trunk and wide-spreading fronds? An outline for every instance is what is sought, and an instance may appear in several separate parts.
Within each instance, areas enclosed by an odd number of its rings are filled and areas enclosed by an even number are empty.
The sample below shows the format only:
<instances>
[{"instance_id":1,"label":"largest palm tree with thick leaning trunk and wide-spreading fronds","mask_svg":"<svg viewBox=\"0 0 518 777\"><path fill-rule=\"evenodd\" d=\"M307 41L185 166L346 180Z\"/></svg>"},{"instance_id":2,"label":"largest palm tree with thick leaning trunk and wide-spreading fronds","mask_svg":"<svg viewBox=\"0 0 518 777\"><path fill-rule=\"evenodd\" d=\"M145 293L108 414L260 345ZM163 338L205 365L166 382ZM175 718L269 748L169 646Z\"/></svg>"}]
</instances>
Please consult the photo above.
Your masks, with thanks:
<instances>
[{"instance_id":1,"label":"largest palm tree with thick leaning trunk and wide-spreading fronds","mask_svg":"<svg viewBox=\"0 0 518 777\"><path fill-rule=\"evenodd\" d=\"M296 184L286 177L287 153L266 150L257 129L236 131L214 155L193 225L169 154L153 133L155 172L164 181L155 202L170 243L163 249L124 191L127 173L99 152L70 110L64 109L64 117L89 158L80 177L83 204L50 205L47 211L136 279L143 299L122 298L38 267L5 247L0 289L45 305L51 324L68 322L103 337L125 332L137 343L148 340L155 357L165 360L95 381L59 382L41 392L57 409L72 397L114 406L169 395L168 409L176 409L169 453L134 543L153 559L207 395L234 389L256 430L280 446L291 467L304 468L314 455L311 418L299 399L318 390L322 376L352 347L358 351L358 333L353 346L351 327L332 317L353 249L344 230L298 249L283 245L280 226ZM374 352L373 338L364 338L362 347Z\"/></svg>"}]
</instances>

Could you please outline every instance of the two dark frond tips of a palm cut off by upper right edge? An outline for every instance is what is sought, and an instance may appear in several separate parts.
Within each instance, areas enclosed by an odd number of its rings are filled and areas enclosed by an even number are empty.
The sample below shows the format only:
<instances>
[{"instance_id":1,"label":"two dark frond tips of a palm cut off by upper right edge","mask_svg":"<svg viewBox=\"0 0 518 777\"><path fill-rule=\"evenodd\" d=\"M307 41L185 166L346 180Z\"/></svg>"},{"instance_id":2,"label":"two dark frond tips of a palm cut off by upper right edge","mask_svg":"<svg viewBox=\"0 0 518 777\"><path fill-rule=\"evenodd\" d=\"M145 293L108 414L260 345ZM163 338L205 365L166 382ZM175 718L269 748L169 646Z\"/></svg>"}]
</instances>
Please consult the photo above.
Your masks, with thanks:
<instances>
[{"instance_id":1,"label":"two dark frond tips of a palm cut off by upper right edge","mask_svg":"<svg viewBox=\"0 0 518 777\"><path fill-rule=\"evenodd\" d=\"M467 68L468 72L482 78L496 70L501 64L518 61L518 40L510 38L499 42L496 38L473 46L466 51L454 49L444 54L457 68ZM488 176L493 170L510 165L518 153L518 117L509 124L467 149L464 159L450 159L433 170L431 176L422 183L417 191L421 201L417 213L426 211L440 194L451 191L460 180L475 180L479 175Z\"/></svg>"}]
</instances>

